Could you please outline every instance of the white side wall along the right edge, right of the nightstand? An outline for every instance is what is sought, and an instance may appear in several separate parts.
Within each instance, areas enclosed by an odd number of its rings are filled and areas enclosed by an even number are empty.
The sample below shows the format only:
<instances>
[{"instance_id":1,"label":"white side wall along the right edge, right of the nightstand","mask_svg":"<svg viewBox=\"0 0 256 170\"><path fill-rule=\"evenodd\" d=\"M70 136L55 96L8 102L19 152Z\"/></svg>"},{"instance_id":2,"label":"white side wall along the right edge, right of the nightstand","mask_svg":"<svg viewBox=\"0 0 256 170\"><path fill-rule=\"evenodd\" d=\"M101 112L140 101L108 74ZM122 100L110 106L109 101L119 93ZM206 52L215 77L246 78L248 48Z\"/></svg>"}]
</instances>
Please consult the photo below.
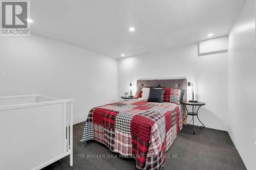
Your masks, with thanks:
<instances>
[{"instance_id":1,"label":"white side wall along the right edge, right of the nightstand","mask_svg":"<svg viewBox=\"0 0 256 170\"><path fill-rule=\"evenodd\" d=\"M247 169L256 169L255 0L247 0L229 34L228 132Z\"/></svg>"}]
</instances>

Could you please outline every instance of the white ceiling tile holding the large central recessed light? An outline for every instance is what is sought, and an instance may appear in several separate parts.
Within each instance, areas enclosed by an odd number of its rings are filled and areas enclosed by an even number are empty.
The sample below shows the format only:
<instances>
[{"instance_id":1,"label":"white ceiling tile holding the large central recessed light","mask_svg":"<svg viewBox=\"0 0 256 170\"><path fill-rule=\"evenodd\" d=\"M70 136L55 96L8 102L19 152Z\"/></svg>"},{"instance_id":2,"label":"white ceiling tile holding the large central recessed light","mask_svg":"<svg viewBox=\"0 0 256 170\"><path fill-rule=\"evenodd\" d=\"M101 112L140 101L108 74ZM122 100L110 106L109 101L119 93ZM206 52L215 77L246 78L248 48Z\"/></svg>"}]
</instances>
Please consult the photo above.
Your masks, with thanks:
<instances>
[{"instance_id":1,"label":"white ceiling tile holding the large central recessed light","mask_svg":"<svg viewBox=\"0 0 256 170\"><path fill-rule=\"evenodd\" d=\"M135 28L134 32L129 31L129 28L131 27ZM125 38L135 37L152 30L138 15L119 22L117 25L110 27L110 29L116 33L119 33Z\"/></svg>"}]
</instances>

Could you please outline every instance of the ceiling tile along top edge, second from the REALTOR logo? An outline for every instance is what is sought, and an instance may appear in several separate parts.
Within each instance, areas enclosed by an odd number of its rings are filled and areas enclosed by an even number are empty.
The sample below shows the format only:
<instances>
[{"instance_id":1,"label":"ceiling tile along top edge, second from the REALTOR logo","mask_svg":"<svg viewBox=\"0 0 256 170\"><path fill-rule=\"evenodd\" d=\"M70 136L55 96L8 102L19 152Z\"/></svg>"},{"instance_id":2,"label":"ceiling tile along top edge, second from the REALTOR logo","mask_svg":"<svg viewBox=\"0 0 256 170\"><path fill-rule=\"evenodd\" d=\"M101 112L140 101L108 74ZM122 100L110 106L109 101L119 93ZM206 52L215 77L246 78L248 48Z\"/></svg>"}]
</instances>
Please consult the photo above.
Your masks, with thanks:
<instances>
[{"instance_id":1,"label":"ceiling tile along top edge, second from the REALTOR logo","mask_svg":"<svg viewBox=\"0 0 256 170\"><path fill-rule=\"evenodd\" d=\"M125 0L87 0L79 5L79 10L105 26L115 25L135 15Z\"/></svg>"}]
</instances>

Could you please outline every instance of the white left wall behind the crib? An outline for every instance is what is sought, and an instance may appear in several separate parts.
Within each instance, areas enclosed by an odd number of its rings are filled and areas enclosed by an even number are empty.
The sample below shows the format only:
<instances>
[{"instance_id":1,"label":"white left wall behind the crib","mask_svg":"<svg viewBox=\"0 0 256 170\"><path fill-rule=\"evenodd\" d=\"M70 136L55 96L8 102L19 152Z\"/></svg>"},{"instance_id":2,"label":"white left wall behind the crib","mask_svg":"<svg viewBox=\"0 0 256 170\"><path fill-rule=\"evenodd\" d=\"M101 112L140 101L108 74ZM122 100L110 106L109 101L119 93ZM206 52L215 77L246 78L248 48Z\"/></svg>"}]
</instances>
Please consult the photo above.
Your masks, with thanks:
<instances>
[{"instance_id":1,"label":"white left wall behind the crib","mask_svg":"<svg viewBox=\"0 0 256 170\"><path fill-rule=\"evenodd\" d=\"M117 101L117 60L58 41L0 37L0 96L40 93L74 99L74 124Z\"/></svg>"}]
</instances>

